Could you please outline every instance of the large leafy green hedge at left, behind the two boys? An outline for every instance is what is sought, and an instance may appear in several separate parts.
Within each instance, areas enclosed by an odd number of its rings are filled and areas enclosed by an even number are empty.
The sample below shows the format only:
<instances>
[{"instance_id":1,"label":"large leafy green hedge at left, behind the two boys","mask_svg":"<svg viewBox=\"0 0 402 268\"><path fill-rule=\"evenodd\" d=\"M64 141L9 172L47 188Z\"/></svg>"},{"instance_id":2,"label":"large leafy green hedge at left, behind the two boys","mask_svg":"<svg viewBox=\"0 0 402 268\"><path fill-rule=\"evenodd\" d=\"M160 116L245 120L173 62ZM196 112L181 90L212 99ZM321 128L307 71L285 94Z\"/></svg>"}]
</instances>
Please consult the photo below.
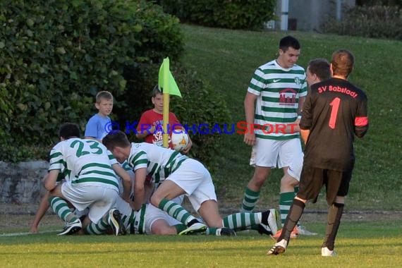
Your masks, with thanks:
<instances>
[{"instance_id":1,"label":"large leafy green hedge at left, behind the two boys","mask_svg":"<svg viewBox=\"0 0 402 268\"><path fill-rule=\"evenodd\" d=\"M0 23L6 162L46 158L60 123L84 130L99 90L116 97L112 118L139 118L160 63L183 51L178 19L145 1L3 0Z\"/></svg>"}]
</instances>

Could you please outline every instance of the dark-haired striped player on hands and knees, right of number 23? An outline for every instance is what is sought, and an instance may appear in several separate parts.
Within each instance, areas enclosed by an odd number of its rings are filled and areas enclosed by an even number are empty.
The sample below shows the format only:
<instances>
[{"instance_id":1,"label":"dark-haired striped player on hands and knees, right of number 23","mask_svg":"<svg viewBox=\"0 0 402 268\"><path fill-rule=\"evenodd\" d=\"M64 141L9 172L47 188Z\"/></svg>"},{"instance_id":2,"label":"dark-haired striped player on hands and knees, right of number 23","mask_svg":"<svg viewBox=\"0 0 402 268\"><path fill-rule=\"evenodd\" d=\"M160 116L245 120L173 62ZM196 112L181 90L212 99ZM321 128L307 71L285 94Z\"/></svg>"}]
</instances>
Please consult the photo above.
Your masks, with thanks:
<instances>
[{"instance_id":1,"label":"dark-haired striped player on hands and knees, right of number 23","mask_svg":"<svg viewBox=\"0 0 402 268\"><path fill-rule=\"evenodd\" d=\"M151 204L187 226L178 234L202 233L207 231L207 227L245 229L252 224L268 226L267 230L272 233L277 230L275 209L260 214L237 213L222 219L211 175L195 159L150 143L130 143L121 131L109 133L102 142L118 162L123 163L128 159L128 164L135 171L135 210L139 210L147 201L144 190L147 175L152 183L162 182L152 194ZM184 194L188 195L191 205L205 224L173 201L173 198Z\"/></svg>"}]
</instances>

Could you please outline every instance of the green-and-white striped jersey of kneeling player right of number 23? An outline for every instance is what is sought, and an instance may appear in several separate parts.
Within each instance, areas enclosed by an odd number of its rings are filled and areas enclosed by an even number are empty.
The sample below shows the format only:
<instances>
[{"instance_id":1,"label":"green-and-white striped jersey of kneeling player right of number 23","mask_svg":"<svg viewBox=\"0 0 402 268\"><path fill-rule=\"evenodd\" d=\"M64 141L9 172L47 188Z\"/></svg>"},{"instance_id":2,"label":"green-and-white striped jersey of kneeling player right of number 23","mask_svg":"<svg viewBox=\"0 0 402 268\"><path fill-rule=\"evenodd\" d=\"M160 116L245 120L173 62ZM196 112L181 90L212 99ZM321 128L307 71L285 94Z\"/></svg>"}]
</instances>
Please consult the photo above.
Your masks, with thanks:
<instances>
[{"instance_id":1,"label":"green-and-white striped jersey of kneeling player right of number 23","mask_svg":"<svg viewBox=\"0 0 402 268\"><path fill-rule=\"evenodd\" d=\"M128 164L135 170L146 168L153 183L164 181L188 157L171 149L147 142L131 143Z\"/></svg>"}]
</instances>

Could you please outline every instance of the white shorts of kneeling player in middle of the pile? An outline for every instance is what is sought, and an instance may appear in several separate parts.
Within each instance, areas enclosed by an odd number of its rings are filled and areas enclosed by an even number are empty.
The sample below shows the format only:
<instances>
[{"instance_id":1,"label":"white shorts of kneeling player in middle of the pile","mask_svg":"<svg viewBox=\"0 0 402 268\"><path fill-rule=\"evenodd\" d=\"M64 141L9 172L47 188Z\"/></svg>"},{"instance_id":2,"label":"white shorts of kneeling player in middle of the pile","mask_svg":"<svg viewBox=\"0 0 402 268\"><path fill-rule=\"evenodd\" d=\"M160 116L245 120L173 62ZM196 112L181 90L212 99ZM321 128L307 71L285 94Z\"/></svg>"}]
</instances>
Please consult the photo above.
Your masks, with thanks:
<instances>
[{"instance_id":1,"label":"white shorts of kneeling player in middle of the pile","mask_svg":"<svg viewBox=\"0 0 402 268\"><path fill-rule=\"evenodd\" d=\"M183 161L181 166L171 173L166 180L173 181L185 191L196 212L203 202L207 200L217 201L211 174L204 165L195 159Z\"/></svg>"}]
</instances>

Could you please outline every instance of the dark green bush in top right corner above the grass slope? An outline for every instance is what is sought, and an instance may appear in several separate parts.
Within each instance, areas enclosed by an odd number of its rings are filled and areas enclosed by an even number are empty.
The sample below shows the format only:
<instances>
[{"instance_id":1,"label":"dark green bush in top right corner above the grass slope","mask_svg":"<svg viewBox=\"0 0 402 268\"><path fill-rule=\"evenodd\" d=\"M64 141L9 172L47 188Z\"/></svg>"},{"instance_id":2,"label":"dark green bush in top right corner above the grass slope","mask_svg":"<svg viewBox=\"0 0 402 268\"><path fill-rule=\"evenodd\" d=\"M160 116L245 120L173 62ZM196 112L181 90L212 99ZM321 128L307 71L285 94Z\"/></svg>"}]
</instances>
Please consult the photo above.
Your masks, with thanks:
<instances>
[{"instance_id":1,"label":"dark green bush in top right corner above the grass slope","mask_svg":"<svg viewBox=\"0 0 402 268\"><path fill-rule=\"evenodd\" d=\"M346 9L343 19L327 20L325 33L402 40L402 13L398 6L355 6Z\"/></svg>"}]
</instances>

